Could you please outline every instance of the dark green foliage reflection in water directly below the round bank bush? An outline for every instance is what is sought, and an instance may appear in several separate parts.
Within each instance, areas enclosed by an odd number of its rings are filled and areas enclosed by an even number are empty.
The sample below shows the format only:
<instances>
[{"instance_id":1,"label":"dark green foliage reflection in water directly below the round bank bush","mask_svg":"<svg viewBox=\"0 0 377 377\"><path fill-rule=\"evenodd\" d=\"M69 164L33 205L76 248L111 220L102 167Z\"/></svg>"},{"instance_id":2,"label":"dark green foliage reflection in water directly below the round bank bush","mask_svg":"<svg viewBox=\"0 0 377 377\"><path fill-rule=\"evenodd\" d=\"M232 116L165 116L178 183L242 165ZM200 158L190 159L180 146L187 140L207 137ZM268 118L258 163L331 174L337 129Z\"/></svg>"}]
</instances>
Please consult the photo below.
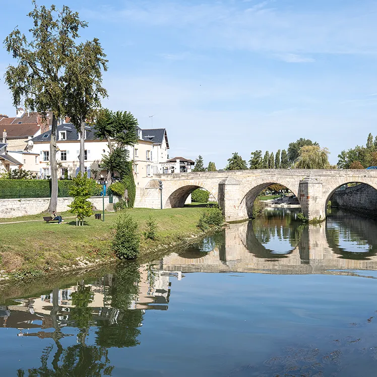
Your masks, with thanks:
<instances>
[{"instance_id":1,"label":"dark green foliage reflection in water directly below the round bank bush","mask_svg":"<svg viewBox=\"0 0 377 377\"><path fill-rule=\"evenodd\" d=\"M106 321L98 321L96 343L102 347L134 347L140 344L141 309L130 309L139 295L140 271L135 261L118 266L112 284L105 289Z\"/></svg>"}]
</instances>

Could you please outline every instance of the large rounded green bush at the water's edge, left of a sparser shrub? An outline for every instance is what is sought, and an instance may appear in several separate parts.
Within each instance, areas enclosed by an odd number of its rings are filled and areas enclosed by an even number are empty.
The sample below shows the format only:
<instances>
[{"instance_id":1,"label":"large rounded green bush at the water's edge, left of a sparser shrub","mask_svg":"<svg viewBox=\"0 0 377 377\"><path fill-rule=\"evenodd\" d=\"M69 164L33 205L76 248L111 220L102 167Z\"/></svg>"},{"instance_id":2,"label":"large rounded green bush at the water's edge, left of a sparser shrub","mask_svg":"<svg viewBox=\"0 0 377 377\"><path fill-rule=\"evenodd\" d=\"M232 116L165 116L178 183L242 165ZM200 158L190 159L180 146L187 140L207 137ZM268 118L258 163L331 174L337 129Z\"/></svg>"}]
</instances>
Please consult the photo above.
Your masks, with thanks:
<instances>
[{"instance_id":1,"label":"large rounded green bush at the water's edge, left of a sparser shrub","mask_svg":"<svg viewBox=\"0 0 377 377\"><path fill-rule=\"evenodd\" d=\"M139 254L139 224L129 214L121 213L116 219L116 233L112 250L119 259L135 259Z\"/></svg>"}]
</instances>

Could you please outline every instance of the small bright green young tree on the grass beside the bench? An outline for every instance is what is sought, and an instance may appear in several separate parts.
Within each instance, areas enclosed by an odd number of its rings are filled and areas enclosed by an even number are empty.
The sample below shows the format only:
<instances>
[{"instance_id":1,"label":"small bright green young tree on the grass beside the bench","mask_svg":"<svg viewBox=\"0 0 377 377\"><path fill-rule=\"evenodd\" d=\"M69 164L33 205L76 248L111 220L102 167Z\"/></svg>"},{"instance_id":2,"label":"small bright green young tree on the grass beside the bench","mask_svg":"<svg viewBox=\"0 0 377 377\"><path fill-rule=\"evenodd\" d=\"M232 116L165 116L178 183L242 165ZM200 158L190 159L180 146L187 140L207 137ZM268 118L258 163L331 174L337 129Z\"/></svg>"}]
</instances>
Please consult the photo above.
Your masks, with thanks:
<instances>
[{"instance_id":1,"label":"small bright green young tree on the grass beside the bench","mask_svg":"<svg viewBox=\"0 0 377 377\"><path fill-rule=\"evenodd\" d=\"M74 198L69 205L70 212L76 214L76 226L84 225L84 218L93 215L92 203L88 201L93 191L93 184L86 174L81 172L73 178L73 184L70 186L70 195Z\"/></svg>"}]
</instances>

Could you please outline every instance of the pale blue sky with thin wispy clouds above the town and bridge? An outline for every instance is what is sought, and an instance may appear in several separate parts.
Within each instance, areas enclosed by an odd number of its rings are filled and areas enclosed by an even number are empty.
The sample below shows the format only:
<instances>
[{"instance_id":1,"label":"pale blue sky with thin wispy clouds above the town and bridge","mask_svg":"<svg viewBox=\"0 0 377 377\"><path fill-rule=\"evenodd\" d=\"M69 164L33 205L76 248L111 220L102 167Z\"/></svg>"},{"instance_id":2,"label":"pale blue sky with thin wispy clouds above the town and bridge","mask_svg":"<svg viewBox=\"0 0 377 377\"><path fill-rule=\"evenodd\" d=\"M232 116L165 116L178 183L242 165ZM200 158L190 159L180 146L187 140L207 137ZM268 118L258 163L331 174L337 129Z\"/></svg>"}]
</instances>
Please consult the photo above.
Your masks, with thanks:
<instances>
[{"instance_id":1,"label":"pale blue sky with thin wispy clouds above the town and bridge","mask_svg":"<svg viewBox=\"0 0 377 377\"><path fill-rule=\"evenodd\" d=\"M50 5L46 1L38 4ZM342 149L375 136L377 2L360 0L61 0L109 59L103 105L166 128L170 157L215 161L276 152L300 137ZM29 29L28 0L3 4L0 39ZM0 112L15 110L3 75Z\"/></svg>"}]
</instances>

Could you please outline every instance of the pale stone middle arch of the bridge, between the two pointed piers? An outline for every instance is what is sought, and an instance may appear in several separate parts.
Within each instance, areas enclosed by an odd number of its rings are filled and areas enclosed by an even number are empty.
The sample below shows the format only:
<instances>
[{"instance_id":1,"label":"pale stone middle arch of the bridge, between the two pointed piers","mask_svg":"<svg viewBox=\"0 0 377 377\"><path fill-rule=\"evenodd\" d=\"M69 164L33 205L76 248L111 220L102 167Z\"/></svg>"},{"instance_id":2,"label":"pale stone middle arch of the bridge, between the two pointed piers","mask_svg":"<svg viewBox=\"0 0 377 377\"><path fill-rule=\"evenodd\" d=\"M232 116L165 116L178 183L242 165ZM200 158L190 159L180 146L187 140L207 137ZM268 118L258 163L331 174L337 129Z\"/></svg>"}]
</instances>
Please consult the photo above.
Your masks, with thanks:
<instances>
[{"instance_id":1,"label":"pale stone middle arch of the bridge, between the two pointed piers","mask_svg":"<svg viewBox=\"0 0 377 377\"><path fill-rule=\"evenodd\" d=\"M239 218L252 218L253 205L258 195L272 184L281 184L287 187L298 199L299 179L286 179L284 176L260 177L253 181L253 183L246 183L240 188L241 201L238 206Z\"/></svg>"}]
</instances>

